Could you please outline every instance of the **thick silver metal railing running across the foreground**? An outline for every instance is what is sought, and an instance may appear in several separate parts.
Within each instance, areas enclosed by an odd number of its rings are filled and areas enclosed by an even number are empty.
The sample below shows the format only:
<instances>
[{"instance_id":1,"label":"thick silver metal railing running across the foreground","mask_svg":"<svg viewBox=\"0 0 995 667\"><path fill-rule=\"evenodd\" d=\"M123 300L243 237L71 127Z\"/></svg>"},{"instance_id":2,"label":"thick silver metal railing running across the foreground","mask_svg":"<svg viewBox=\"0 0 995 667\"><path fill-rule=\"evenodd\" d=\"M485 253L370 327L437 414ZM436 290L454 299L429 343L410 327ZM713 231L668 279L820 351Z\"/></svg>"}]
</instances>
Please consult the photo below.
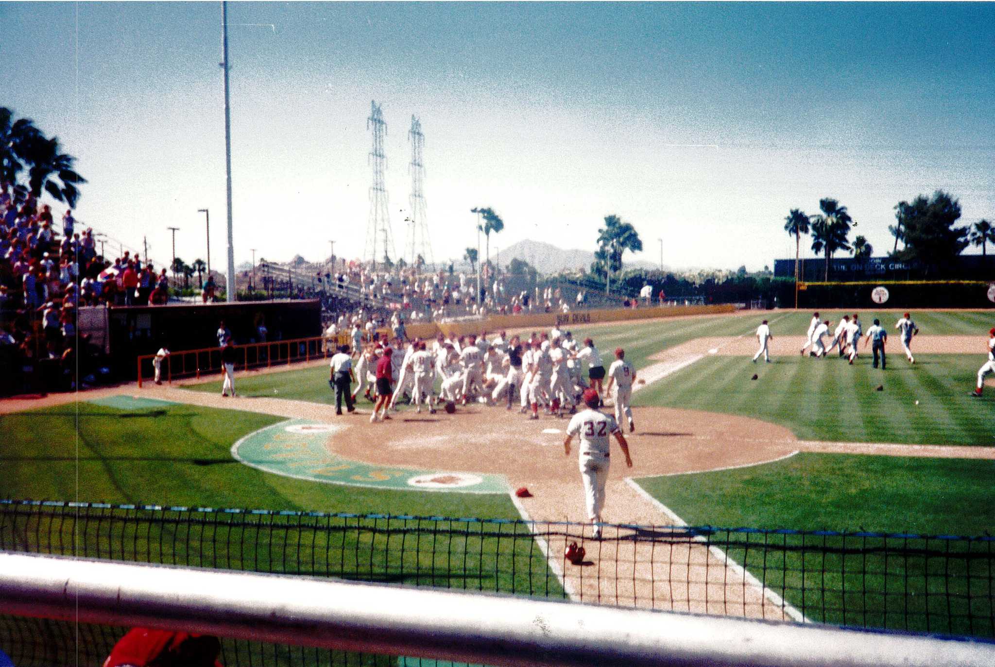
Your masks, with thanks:
<instances>
[{"instance_id":1,"label":"thick silver metal railing running across the foreground","mask_svg":"<svg viewBox=\"0 0 995 667\"><path fill-rule=\"evenodd\" d=\"M0 553L0 599L11 614L374 654L360 664L995 664L982 641L23 554Z\"/></svg>"}]
</instances>

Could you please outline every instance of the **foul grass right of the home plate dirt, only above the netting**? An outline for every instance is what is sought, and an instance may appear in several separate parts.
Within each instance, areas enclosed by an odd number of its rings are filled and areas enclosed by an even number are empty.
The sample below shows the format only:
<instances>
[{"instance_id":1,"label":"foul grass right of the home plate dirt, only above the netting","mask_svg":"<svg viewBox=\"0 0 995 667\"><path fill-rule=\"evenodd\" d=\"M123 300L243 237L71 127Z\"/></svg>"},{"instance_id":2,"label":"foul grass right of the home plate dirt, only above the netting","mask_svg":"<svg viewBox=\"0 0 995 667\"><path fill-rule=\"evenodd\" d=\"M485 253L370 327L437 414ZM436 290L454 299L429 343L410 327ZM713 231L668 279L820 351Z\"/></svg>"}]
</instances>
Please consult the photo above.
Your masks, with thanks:
<instances>
[{"instance_id":1,"label":"foul grass right of the home plate dirt, only above the netting","mask_svg":"<svg viewBox=\"0 0 995 667\"><path fill-rule=\"evenodd\" d=\"M983 535L995 461L795 454L731 470L638 480L693 526Z\"/></svg>"}]
</instances>

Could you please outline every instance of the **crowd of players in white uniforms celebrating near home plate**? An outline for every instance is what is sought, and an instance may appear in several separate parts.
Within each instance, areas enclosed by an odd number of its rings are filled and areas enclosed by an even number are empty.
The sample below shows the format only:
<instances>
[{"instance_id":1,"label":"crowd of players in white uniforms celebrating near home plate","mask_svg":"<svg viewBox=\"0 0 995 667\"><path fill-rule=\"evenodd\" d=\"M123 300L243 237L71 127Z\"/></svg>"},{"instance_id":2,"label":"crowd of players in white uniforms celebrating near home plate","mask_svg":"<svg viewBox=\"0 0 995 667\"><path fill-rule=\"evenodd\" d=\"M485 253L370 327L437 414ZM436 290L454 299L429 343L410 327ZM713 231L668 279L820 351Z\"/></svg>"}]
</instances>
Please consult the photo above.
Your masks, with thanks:
<instances>
[{"instance_id":1,"label":"crowd of players in white uniforms celebrating near home plate","mask_svg":"<svg viewBox=\"0 0 995 667\"><path fill-rule=\"evenodd\" d=\"M524 339L503 331L493 338L440 333L434 340L394 336L364 344L362 330L354 326L351 339L351 348L342 346L331 361L337 414L342 402L352 412L364 396L374 402L370 421L389 419L405 401L417 413L423 406L434 414L440 405L452 412L458 404L476 402L508 411L517 406L532 419L539 418L540 408L545 415L563 417L576 413L584 390L591 388L602 405L610 396L618 422L628 422L630 432L635 429L630 398L636 372L625 361L625 351L615 350L606 372L594 341L587 338L581 345L569 331L554 328ZM582 364L588 367L586 379ZM349 394L343 396L346 387Z\"/></svg>"}]
</instances>

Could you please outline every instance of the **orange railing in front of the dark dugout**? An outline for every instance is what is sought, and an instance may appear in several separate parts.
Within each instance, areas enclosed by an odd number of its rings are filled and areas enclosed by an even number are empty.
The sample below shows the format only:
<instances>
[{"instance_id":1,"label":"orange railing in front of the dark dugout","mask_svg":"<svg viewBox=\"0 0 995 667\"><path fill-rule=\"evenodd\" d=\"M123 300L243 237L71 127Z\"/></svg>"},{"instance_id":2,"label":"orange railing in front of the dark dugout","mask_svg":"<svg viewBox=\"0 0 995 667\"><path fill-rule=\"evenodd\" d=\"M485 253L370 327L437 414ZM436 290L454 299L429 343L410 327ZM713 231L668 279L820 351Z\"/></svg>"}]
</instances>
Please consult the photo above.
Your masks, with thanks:
<instances>
[{"instance_id":1,"label":"orange railing in front of the dark dugout","mask_svg":"<svg viewBox=\"0 0 995 667\"><path fill-rule=\"evenodd\" d=\"M288 366L294 362L327 359L334 354L335 346L347 343L348 336L339 334L334 341L324 336L314 336L312 338L236 345L235 351L241 355L241 361L236 363L236 367L241 366L242 370L245 371L251 368L272 368L274 366ZM143 377L153 377L153 359L155 359L154 354L139 355L137 358L139 389L141 389ZM220 347L170 352L169 356L162 362L162 380L168 383L172 383L173 378L194 377L199 379L201 375L214 373L221 373Z\"/></svg>"}]
</instances>

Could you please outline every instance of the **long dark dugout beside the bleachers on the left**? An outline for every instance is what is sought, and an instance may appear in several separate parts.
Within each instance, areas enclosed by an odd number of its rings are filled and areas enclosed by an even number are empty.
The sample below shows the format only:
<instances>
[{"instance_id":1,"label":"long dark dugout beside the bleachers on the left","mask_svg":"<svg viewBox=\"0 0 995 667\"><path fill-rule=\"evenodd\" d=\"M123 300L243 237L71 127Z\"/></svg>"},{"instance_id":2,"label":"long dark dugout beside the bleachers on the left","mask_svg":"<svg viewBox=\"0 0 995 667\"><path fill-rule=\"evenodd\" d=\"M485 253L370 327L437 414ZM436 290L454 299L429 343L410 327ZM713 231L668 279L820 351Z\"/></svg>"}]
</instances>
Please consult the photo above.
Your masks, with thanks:
<instances>
[{"instance_id":1,"label":"long dark dugout beside the bleachers on the left","mask_svg":"<svg viewBox=\"0 0 995 667\"><path fill-rule=\"evenodd\" d=\"M100 318L92 320L99 322ZM172 352L217 347L221 320L232 332L236 345L261 342L260 324L266 325L268 341L320 336L321 302L318 299L281 299L111 306L106 308L102 325L104 350L112 360L116 378L134 379L135 358L155 354L163 345Z\"/></svg>"}]
</instances>

